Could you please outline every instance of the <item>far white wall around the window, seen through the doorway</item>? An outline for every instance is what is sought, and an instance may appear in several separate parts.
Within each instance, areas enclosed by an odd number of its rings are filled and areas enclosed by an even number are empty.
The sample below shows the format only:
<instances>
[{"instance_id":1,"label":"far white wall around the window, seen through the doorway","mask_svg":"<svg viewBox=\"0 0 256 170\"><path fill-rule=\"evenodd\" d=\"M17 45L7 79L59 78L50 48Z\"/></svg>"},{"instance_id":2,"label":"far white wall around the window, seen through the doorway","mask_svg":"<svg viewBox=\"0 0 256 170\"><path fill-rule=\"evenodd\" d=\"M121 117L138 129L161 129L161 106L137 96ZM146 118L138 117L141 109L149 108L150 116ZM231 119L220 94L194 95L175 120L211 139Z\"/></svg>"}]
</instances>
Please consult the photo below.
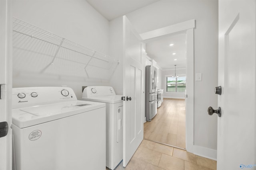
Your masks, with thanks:
<instances>
[{"instance_id":1,"label":"far white wall around the window, seen through the doorway","mask_svg":"<svg viewBox=\"0 0 256 170\"><path fill-rule=\"evenodd\" d=\"M162 71L162 89L164 89L164 98L184 99L185 93L166 92L166 76L172 76L174 74L174 69ZM186 68L176 68L176 74L178 76L186 76Z\"/></svg>"}]
</instances>

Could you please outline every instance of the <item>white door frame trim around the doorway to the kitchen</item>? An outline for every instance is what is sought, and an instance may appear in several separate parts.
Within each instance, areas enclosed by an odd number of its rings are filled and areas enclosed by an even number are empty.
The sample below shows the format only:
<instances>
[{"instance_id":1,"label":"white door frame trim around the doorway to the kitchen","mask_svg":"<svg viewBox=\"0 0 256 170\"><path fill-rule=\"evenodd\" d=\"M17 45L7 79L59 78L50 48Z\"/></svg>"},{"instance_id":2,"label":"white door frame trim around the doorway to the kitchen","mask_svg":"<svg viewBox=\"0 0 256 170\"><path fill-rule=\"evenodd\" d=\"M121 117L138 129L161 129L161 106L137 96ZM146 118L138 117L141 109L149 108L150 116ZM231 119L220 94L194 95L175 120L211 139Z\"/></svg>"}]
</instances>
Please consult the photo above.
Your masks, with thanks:
<instances>
[{"instance_id":1,"label":"white door frame trim around the doorway to the kitchen","mask_svg":"<svg viewBox=\"0 0 256 170\"><path fill-rule=\"evenodd\" d=\"M155 29L140 36L144 42L158 39L165 35L186 31L186 150L193 152L194 148L194 28L195 20L176 23L160 29Z\"/></svg>"}]
</instances>

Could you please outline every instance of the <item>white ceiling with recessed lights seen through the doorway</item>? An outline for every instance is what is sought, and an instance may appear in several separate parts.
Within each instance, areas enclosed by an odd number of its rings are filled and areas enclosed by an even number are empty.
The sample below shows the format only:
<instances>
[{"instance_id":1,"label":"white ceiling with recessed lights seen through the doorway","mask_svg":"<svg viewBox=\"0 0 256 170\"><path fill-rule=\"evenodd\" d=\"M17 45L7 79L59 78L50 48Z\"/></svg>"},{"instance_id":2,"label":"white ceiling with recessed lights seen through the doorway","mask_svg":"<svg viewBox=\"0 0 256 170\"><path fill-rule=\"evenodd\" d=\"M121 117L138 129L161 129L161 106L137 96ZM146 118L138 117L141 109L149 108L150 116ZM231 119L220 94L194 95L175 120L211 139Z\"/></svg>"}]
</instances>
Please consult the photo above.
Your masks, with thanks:
<instances>
[{"instance_id":1,"label":"white ceiling with recessed lights seen through the doorway","mask_svg":"<svg viewBox=\"0 0 256 170\"><path fill-rule=\"evenodd\" d=\"M186 32L147 42L146 53L163 70L175 68L175 64L176 68L186 68Z\"/></svg>"}]
</instances>

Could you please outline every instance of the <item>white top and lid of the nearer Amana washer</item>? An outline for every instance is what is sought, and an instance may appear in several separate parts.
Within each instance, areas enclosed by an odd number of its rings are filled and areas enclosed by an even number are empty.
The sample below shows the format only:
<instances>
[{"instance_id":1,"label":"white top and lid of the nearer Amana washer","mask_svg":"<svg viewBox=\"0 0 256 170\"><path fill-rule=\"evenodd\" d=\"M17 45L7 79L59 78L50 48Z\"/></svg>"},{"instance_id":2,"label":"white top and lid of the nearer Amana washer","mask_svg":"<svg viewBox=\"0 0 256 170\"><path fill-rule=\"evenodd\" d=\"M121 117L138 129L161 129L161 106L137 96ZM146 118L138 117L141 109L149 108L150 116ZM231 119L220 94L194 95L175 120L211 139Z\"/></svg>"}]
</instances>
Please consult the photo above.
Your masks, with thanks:
<instances>
[{"instance_id":1,"label":"white top and lid of the nearer Amana washer","mask_svg":"<svg viewBox=\"0 0 256 170\"><path fill-rule=\"evenodd\" d=\"M106 104L99 102L76 100L72 102L12 109L12 123L20 128L24 128L105 106Z\"/></svg>"}]
</instances>

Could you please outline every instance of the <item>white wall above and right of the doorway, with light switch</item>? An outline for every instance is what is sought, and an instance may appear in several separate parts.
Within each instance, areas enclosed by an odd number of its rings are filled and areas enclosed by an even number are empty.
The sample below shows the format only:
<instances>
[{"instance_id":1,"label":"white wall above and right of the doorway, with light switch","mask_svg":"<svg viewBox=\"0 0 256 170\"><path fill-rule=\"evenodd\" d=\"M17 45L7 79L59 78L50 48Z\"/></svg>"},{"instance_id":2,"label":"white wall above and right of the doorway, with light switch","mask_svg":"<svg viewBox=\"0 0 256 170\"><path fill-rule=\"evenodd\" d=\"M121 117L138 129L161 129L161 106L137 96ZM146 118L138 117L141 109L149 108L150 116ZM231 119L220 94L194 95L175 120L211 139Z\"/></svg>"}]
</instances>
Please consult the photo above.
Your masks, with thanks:
<instances>
[{"instance_id":1,"label":"white wall above and right of the doorway, with light switch","mask_svg":"<svg viewBox=\"0 0 256 170\"><path fill-rule=\"evenodd\" d=\"M207 108L217 107L214 87L218 86L218 0L160 0L126 16L139 33L196 20L194 74L202 73L202 81L194 82L194 151L216 151L217 117L209 116Z\"/></svg>"}]
</instances>

